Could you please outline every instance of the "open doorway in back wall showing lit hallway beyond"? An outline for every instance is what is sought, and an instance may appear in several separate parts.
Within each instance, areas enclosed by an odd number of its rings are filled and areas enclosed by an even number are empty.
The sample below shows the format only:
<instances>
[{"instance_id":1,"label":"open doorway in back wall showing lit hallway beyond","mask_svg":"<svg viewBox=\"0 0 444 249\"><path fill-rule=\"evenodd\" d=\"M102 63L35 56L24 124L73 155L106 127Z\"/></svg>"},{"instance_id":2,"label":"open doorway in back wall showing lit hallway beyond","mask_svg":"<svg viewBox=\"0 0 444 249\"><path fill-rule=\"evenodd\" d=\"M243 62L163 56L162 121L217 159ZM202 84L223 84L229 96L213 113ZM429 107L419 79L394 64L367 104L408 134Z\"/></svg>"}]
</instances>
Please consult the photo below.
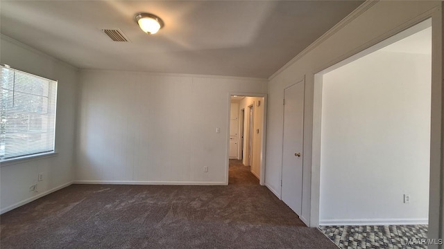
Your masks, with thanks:
<instances>
[{"instance_id":1,"label":"open doorway in back wall showing lit hallway beyond","mask_svg":"<svg viewBox=\"0 0 444 249\"><path fill-rule=\"evenodd\" d=\"M228 184L264 184L265 124L266 95L230 94Z\"/></svg>"}]
</instances>

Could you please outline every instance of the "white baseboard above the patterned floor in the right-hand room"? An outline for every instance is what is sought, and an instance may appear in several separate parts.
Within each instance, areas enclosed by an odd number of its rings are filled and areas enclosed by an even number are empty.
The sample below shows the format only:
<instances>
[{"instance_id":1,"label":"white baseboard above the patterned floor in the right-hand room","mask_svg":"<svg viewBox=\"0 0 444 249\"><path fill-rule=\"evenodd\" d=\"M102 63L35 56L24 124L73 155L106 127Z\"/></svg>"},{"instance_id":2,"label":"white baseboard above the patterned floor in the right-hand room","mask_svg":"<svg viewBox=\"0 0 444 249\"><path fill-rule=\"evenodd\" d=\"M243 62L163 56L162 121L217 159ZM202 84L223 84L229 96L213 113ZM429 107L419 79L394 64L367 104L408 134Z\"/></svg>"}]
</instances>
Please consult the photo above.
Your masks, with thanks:
<instances>
[{"instance_id":1,"label":"white baseboard above the patterned floor in the right-hand room","mask_svg":"<svg viewBox=\"0 0 444 249\"><path fill-rule=\"evenodd\" d=\"M427 225L429 219L326 219L319 225Z\"/></svg>"}]
</instances>

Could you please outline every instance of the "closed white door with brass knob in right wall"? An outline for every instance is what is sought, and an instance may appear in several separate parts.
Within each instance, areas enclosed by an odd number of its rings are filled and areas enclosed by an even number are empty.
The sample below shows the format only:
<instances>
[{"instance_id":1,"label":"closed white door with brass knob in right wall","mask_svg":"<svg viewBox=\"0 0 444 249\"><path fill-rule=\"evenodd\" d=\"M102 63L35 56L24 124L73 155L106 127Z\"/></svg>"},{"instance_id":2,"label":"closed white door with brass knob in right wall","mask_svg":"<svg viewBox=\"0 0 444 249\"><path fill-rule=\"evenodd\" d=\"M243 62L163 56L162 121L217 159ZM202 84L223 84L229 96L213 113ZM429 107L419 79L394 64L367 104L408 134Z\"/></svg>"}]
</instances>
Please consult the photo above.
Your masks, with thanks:
<instances>
[{"instance_id":1,"label":"closed white door with brass knob in right wall","mask_svg":"<svg viewBox=\"0 0 444 249\"><path fill-rule=\"evenodd\" d=\"M284 137L282 153L282 201L302 212L302 139L304 133L304 82L284 91Z\"/></svg>"}]
</instances>

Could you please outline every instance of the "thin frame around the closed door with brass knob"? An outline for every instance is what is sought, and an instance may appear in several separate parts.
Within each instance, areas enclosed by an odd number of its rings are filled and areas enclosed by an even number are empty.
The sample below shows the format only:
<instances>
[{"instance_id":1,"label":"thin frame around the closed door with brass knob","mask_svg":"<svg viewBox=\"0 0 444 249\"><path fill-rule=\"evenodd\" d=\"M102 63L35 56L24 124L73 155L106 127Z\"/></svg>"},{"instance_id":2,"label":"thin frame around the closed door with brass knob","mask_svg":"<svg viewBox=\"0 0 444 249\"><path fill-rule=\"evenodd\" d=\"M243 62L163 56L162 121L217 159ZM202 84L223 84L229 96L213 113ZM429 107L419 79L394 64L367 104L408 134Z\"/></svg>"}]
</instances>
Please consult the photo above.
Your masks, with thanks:
<instances>
[{"instance_id":1,"label":"thin frame around the closed door with brass knob","mask_svg":"<svg viewBox=\"0 0 444 249\"><path fill-rule=\"evenodd\" d=\"M279 199L282 200L282 174L284 171L284 136L285 136L285 131L284 131L284 119L285 119L285 91L287 89L289 89L291 86L296 86L297 84L303 84L304 85L304 107L302 107L303 111L302 111L302 194L301 194L301 205L302 205L302 201L303 201L303 196L304 196L304 160L303 160L303 156L304 154L304 140L305 140L305 132L303 132L305 129L305 77L300 78L299 80L296 80L296 82L293 82L287 86L284 87L284 91L282 93L282 96L284 96L283 100L282 100L282 154L281 154L281 164L280 164L280 192L279 192ZM301 215L302 216L302 208L303 205L301 207Z\"/></svg>"}]
</instances>

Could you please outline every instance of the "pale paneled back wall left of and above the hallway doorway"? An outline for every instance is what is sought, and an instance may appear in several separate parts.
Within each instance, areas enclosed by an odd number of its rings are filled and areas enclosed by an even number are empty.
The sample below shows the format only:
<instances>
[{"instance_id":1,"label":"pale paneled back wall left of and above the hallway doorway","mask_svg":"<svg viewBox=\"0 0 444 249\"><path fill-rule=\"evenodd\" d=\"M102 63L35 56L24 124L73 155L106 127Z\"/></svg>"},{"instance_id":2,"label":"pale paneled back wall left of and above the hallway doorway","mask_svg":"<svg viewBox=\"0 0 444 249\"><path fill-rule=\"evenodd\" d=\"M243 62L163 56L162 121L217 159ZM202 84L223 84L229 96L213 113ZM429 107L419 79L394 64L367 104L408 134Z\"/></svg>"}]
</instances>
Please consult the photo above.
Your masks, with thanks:
<instances>
[{"instance_id":1,"label":"pale paneled back wall left of and above the hallway doorway","mask_svg":"<svg viewBox=\"0 0 444 249\"><path fill-rule=\"evenodd\" d=\"M267 84L236 77L80 71L76 180L228 184L229 92L266 93Z\"/></svg>"}]
</instances>

